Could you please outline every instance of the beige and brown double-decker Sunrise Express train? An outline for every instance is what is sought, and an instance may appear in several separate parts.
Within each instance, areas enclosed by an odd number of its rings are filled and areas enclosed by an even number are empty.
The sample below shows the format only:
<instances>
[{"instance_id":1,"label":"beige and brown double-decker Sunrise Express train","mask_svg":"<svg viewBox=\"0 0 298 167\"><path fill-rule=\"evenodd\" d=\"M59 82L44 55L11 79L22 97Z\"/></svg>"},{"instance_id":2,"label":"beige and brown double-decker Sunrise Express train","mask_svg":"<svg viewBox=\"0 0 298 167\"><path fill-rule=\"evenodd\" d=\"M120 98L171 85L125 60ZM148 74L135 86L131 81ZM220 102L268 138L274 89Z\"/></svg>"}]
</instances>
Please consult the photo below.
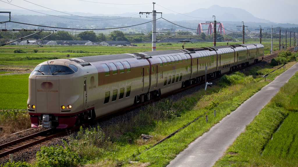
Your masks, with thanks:
<instances>
[{"instance_id":1,"label":"beige and brown double-decker Sunrise Express train","mask_svg":"<svg viewBox=\"0 0 298 167\"><path fill-rule=\"evenodd\" d=\"M264 46L249 43L45 61L29 76L31 127L72 128L263 57Z\"/></svg>"}]
</instances>

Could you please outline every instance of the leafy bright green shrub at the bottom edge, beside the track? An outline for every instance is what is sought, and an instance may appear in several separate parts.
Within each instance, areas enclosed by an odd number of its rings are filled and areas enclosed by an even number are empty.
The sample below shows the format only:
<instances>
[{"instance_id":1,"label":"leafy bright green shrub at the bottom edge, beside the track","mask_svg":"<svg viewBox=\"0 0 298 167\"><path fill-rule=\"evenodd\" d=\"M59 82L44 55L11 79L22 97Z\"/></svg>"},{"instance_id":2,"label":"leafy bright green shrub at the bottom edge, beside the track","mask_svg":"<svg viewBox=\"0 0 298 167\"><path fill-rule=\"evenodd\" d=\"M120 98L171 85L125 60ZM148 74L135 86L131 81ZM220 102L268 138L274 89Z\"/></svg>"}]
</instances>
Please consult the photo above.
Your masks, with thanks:
<instances>
[{"instance_id":1,"label":"leafy bright green shrub at the bottom edge, beside the track","mask_svg":"<svg viewBox=\"0 0 298 167\"><path fill-rule=\"evenodd\" d=\"M62 146L42 146L36 153L36 166L75 166L80 163L80 157L69 148Z\"/></svg>"}]
</instances>

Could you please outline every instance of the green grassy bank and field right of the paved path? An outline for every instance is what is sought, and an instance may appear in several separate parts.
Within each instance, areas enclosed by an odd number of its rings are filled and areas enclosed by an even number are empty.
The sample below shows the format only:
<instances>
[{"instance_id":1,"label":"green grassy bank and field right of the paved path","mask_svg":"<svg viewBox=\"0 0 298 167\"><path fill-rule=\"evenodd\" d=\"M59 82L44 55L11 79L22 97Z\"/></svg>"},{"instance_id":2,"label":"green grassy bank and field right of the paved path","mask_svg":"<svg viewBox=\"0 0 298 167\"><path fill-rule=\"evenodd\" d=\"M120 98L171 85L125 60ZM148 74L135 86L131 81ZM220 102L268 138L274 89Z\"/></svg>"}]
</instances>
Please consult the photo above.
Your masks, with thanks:
<instances>
[{"instance_id":1,"label":"green grassy bank and field right of the paved path","mask_svg":"<svg viewBox=\"0 0 298 167\"><path fill-rule=\"evenodd\" d=\"M298 73L271 99L215 166L298 166Z\"/></svg>"}]
</instances>

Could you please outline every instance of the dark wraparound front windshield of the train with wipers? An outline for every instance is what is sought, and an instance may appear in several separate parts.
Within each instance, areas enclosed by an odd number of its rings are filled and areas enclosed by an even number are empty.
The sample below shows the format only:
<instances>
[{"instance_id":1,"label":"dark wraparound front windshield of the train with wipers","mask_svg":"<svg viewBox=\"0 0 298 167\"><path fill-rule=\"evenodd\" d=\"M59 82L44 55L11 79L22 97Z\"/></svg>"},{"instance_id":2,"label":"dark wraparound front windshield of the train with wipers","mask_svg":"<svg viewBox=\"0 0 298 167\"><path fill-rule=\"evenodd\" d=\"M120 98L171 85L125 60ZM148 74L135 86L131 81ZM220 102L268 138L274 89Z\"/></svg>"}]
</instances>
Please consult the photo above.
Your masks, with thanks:
<instances>
[{"instance_id":1,"label":"dark wraparound front windshield of the train with wipers","mask_svg":"<svg viewBox=\"0 0 298 167\"><path fill-rule=\"evenodd\" d=\"M68 75L75 73L69 67L62 65L40 65L35 67L33 75Z\"/></svg>"}]
</instances>

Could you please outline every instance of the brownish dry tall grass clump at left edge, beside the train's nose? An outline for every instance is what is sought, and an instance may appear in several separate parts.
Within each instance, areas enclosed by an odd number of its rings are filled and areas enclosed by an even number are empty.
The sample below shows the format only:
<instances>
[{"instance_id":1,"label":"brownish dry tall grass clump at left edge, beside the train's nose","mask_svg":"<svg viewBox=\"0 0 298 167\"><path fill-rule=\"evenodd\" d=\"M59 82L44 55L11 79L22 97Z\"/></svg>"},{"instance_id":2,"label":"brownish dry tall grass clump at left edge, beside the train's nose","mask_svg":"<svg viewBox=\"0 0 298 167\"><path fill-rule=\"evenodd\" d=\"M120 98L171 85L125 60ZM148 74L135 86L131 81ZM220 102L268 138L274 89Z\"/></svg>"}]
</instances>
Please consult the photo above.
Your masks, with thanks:
<instances>
[{"instance_id":1,"label":"brownish dry tall grass clump at left edge, beside the train's nose","mask_svg":"<svg viewBox=\"0 0 298 167\"><path fill-rule=\"evenodd\" d=\"M0 111L0 136L8 137L10 134L31 127L30 118L27 111L22 110L2 110Z\"/></svg>"}]
</instances>

